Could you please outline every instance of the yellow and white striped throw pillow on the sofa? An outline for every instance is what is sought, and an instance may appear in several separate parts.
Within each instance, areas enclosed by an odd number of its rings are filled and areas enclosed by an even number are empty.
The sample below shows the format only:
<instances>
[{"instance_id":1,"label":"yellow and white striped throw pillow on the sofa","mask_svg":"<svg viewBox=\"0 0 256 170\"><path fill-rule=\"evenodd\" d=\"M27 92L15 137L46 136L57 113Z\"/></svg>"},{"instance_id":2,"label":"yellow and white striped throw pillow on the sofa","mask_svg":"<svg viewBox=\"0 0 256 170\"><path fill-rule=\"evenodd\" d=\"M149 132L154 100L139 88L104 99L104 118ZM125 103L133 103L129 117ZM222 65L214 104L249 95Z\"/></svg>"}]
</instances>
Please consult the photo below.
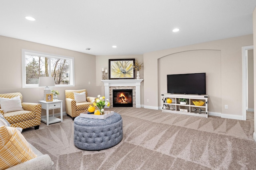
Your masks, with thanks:
<instances>
[{"instance_id":1,"label":"yellow and white striped throw pillow on the sofa","mask_svg":"<svg viewBox=\"0 0 256 170\"><path fill-rule=\"evenodd\" d=\"M29 143L14 127L0 126L0 167L10 168L36 158Z\"/></svg>"}]
</instances>

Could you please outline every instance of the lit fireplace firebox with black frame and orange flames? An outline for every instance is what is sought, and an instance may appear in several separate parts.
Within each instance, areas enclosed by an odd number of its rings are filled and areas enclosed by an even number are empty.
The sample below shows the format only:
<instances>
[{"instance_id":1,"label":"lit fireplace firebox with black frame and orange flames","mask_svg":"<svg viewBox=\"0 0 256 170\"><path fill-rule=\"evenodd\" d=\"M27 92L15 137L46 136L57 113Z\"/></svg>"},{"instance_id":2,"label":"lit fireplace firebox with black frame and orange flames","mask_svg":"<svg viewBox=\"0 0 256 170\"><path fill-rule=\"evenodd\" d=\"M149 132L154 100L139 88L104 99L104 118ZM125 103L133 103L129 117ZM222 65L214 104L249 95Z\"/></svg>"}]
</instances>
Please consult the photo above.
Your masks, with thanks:
<instances>
[{"instance_id":1,"label":"lit fireplace firebox with black frame and orange flames","mask_svg":"<svg viewBox=\"0 0 256 170\"><path fill-rule=\"evenodd\" d=\"M132 89L113 89L113 107L132 107Z\"/></svg>"}]
</instances>

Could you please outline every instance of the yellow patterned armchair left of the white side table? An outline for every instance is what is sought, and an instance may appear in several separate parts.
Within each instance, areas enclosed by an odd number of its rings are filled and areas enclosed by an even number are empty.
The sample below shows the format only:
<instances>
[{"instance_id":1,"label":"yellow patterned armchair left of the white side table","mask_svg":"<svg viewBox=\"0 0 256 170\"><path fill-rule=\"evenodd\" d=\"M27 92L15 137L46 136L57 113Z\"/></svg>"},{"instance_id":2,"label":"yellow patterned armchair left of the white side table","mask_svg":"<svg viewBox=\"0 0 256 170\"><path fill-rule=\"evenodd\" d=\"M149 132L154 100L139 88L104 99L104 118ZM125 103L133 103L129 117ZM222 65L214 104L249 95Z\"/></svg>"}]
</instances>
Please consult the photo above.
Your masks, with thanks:
<instances>
[{"instance_id":1,"label":"yellow patterned armchair left of the white side table","mask_svg":"<svg viewBox=\"0 0 256 170\"><path fill-rule=\"evenodd\" d=\"M9 100L16 96L19 96L22 107L16 107L16 105L12 103L14 100ZM9 101L9 104L2 102L4 100ZM17 100L15 99L15 101ZM8 106L15 108L7 108ZM22 94L20 92L0 94L0 114L4 115L4 118L12 127L26 129L34 126L35 129L39 129L41 123L41 111L41 104L23 102Z\"/></svg>"}]
</instances>

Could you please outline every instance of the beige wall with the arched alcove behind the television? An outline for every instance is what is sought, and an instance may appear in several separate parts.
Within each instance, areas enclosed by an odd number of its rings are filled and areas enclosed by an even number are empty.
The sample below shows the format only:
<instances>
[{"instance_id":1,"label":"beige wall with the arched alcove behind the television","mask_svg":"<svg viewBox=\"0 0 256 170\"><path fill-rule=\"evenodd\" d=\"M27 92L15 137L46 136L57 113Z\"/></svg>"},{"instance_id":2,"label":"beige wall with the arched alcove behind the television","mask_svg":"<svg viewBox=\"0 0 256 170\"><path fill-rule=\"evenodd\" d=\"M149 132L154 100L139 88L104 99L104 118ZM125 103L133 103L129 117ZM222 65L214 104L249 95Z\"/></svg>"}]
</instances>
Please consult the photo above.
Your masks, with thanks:
<instances>
[{"instance_id":1,"label":"beige wall with the arched alcove behind the television","mask_svg":"<svg viewBox=\"0 0 256 170\"><path fill-rule=\"evenodd\" d=\"M163 82L167 74L206 72L209 112L221 117L242 119L242 47L252 44L253 35L244 35L145 53L144 101L148 102L144 103L144 107L161 107L161 93L167 93ZM214 54L212 51L219 52ZM228 105L228 109L224 109L224 105Z\"/></svg>"}]
</instances>

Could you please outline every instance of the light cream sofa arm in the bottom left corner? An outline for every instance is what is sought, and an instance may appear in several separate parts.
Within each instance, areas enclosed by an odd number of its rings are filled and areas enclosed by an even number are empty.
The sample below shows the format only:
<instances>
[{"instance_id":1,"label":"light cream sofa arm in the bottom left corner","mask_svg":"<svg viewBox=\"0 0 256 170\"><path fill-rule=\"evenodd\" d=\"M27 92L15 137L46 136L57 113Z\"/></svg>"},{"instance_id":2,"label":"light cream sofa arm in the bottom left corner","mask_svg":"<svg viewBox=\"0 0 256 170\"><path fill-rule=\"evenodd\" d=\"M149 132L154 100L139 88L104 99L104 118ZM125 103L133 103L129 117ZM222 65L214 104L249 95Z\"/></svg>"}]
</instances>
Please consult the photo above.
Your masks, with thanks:
<instances>
[{"instance_id":1,"label":"light cream sofa arm in the bottom left corner","mask_svg":"<svg viewBox=\"0 0 256 170\"><path fill-rule=\"evenodd\" d=\"M48 154L38 156L6 170L54 170L53 162Z\"/></svg>"}]
</instances>

